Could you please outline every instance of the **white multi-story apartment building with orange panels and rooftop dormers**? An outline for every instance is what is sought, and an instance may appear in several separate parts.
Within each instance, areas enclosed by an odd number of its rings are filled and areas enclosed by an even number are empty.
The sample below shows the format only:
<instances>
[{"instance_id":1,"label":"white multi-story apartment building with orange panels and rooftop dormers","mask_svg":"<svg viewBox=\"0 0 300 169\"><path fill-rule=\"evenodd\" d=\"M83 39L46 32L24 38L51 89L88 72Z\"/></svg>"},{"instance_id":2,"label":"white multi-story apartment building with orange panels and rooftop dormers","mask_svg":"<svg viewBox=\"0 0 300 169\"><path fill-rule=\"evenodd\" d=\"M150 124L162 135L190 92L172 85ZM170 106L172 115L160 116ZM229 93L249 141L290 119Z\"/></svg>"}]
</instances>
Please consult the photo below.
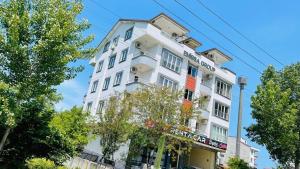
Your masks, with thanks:
<instances>
[{"instance_id":1,"label":"white multi-story apartment building with orange panels and rooftop dormers","mask_svg":"<svg viewBox=\"0 0 300 169\"><path fill-rule=\"evenodd\" d=\"M98 46L90 64L84 109L101 113L105 101L116 91L132 92L145 84L184 89L183 104L203 97L202 120L189 120L199 135L191 151L191 166L214 168L216 153L226 150L232 85L236 75L222 67L232 59L218 49L196 51L200 42L189 30L165 14L150 20L120 19ZM201 138L200 138L201 136ZM100 151L91 143L87 151ZM126 148L123 149L126 152ZM100 152L96 152L100 153Z\"/></svg>"}]
</instances>

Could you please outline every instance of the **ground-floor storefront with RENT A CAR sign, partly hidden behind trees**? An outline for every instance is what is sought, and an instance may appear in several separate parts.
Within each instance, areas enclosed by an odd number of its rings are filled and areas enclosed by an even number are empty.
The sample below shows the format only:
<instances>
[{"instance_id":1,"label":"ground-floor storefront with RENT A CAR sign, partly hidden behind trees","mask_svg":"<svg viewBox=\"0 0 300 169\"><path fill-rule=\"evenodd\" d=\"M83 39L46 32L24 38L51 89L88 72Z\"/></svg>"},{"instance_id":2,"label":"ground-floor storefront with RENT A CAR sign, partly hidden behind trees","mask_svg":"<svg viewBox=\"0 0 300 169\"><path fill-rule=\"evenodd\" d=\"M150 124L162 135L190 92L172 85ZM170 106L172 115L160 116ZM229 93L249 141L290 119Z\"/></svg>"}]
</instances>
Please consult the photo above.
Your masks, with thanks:
<instances>
[{"instance_id":1,"label":"ground-floor storefront with RENT A CAR sign, partly hidden behind trees","mask_svg":"<svg viewBox=\"0 0 300 169\"><path fill-rule=\"evenodd\" d=\"M186 131L173 131L173 135L186 137L192 139L192 146L189 151L178 153L178 151L169 151L165 148L165 151L161 160L162 169L215 169L217 162L217 153L225 152L227 148L226 143L221 143L212 140L203 135L196 135ZM86 169L98 168L102 164L106 163L105 159L101 156L101 147L99 144L100 138L97 138L94 142L90 143L86 150L80 157L73 161L73 166L77 161L78 164L84 165ZM184 146L184 144L183 144ZM134 168L134 169L147 169L154 168L154 161L157 155L157 149L155 147L142 147L140 148L139 155L132 159L128 158L130 153L130 141L120 148L120 150L114 154L114 161L109 161L114 168ZM84 160L81 160L84 159ZM91 164L87 164L86 161L92 161ZM97 166L97 167L95 167ZM81 167L81 166L78 166ZM108 167L108 166L106 166Z\"/></svg>"}]
</instances>

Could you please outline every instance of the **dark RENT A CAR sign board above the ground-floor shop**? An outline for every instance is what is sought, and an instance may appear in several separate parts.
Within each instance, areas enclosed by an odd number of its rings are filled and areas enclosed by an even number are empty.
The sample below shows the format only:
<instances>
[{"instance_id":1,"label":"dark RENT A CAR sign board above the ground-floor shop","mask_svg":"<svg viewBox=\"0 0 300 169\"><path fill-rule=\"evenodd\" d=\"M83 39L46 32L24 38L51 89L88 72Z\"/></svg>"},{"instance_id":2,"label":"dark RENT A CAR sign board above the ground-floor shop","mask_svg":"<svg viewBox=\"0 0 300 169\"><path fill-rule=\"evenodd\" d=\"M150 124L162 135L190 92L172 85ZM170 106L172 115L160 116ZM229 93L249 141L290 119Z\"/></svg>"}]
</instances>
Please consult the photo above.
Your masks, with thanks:
<instances>
[{"instance_id":1,"label":"dark RENT A CAR sign board above the ground-floor shop","mask_svg":"<svg viewBox=\"0 0 300 169\"><path fill-rule=\"evenodd\" d=\"M171 134L181 136L181 137L186 137L186 138L194 140L195 142L202 143L202 144L205 144L205 145L208 145L208 146L211 146L211 147L219 148L219 149L222 149L222 150L227 149L227 144L226 143L222 143L222 142L210 139L206 136L195 134L195 133L192 133L192 132L182 131L182 130L179 130L177 128L173 128L171 130Z\"/></svg>"}]
</instances>

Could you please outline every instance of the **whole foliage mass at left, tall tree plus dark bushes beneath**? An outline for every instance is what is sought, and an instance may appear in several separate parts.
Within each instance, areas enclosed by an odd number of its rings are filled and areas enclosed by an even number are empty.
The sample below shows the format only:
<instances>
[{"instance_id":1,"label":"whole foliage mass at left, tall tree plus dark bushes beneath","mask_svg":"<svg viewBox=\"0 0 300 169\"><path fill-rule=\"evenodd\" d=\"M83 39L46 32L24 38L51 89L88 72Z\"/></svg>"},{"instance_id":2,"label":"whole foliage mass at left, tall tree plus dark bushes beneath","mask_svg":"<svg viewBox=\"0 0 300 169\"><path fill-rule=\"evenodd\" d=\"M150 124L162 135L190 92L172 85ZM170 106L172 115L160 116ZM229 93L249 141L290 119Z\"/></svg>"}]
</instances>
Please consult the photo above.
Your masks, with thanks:
<instances>
[{"instance_id":1,"label":"whole foliage mass at left, tall tree plus dark bushes beneath","mask_svg":"<svg viewBox=\"0 0 300 169\"><path fill-rule=\"evenodd\" d=\"M75 77L82 67L70 63L93 51L86 48L93 37L82 34L89 28L78 17L82 10L81 1L0 3L0 137L10 131L8 141L3 137L2 168L19 168L33 156L60 163L74 154L75 144L85 143L81 134L72 133L78 140L71 142L49 125L59 100L55 86Z\"/></svg>"}]
</instances>

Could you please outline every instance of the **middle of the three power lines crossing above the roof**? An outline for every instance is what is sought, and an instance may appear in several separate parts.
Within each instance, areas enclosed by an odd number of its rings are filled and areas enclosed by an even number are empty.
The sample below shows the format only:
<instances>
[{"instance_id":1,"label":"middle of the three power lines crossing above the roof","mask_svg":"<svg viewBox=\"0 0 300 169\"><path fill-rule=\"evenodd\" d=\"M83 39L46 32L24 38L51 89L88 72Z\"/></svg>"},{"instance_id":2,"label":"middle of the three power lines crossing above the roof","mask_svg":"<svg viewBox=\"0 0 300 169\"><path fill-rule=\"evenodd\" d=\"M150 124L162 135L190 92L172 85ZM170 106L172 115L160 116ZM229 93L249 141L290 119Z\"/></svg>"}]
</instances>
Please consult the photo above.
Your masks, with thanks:
<instances>
[{"instance_id":1,"label":"middle of the three power lines crossing above the roof","mask_svg":"<svg viewBox=\"0 0 300 169\"><path fill-rule=\"evenodd\" d=\"M253 54L251 54L248 50L242 48L240 45L238 45L236 42L234 42L233 40L231 40L229 37L227 37L225 34L223 34L222 32L220 32L219 30L217 30L216 28L214 28L212 25L210 25L208 22L206 22L204 19L202 19L201 17L199 17L197 14L195 14L192 10L190 10L189 8L187 8L186 6L184 6L182 3L178 2L177 0L174 0L178 5L180 5L181 7L183 7L185 10L187 10L190 14L192 14L194 17L196 17L199 21L201 21L202 23L204 23L206 26L208 26L210 29L214 30L215 32L217 32L220 36L222 36L223 38L225 38L227 41L229 41L230 43L232 43L234 46L236 46L237 48L239 48L240 50L242 50L243 52L245 52L247 55L249 55L250 57L252 57L254 60L256 60L257 62L259 62L261 65L267 67L267 65L262 62L261 60L259 60L256 56L254 56Z\"/></svg>"}]
</instances>

